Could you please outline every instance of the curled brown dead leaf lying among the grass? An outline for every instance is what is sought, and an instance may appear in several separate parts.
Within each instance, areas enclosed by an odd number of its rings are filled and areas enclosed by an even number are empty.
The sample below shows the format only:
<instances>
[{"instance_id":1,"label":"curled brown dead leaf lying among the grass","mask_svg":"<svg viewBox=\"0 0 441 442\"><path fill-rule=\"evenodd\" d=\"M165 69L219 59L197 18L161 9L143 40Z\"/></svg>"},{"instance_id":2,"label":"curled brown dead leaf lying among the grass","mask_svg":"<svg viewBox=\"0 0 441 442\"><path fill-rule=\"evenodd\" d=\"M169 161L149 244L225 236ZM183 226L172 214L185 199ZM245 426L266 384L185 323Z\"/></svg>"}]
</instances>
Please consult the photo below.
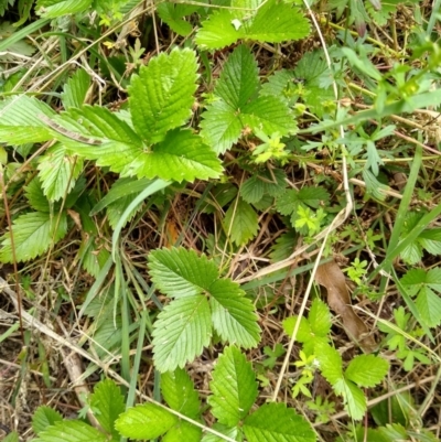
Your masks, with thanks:
<instances>
[{"instance_id":1,"label":"curled brown dead leaf lying among the grass","mask_svg":"<svg viewBox=\"0 0 441 442\"><path fill-rule=\"evenodd\" d=\"M342 269L335 261L326 262L318 268L315 281L327 291L327 304L342 317L343 326L348 336L366 353L372 353L377 344L366 324L354 312L349 292Z\"/></svg>"}]
</instances>

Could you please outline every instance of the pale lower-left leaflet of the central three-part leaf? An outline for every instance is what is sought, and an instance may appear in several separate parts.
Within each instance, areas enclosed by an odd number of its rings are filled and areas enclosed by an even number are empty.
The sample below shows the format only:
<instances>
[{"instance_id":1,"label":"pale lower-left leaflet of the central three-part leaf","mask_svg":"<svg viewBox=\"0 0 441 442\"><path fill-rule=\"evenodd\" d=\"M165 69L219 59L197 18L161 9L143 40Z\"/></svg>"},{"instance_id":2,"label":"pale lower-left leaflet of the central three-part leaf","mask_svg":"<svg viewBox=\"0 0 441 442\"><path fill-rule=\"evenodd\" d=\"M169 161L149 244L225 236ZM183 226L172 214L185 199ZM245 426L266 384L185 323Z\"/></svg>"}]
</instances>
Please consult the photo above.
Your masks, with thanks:
<instances>
[{"instance_id":1,"label":"pale lower-left leaflet of the central three-part leaf","mask_svg":"<svg viewBox=\"0 0 441 442\"><path fill-rule=\"evenodd\" d=\"M172 301L158 315L153 328L153 353L159 371L174 370L198 356L212 337L208 301L204 295Z\"/></svg>"}]
</instances>

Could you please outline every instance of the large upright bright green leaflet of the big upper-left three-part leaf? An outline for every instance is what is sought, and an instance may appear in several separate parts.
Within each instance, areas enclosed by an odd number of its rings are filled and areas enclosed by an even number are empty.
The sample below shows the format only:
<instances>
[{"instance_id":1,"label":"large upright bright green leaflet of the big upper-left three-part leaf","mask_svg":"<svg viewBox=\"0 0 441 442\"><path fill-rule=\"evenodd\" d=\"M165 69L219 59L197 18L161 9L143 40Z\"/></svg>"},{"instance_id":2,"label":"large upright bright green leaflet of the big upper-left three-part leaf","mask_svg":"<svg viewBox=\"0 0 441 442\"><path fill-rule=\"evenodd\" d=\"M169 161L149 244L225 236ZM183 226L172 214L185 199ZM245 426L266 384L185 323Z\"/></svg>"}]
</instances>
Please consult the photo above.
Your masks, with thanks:
<instances>
[{"instance_id":1,"label":"large upright bright green leaflet of the big upper-left three-part leaf","mask_svg":"<svg viewBox=\"0 0 441 442\"><path fill-rule=\"evenodd\" d=\"M174 48L141 66L129 87L129 106L135 129L147 144L164 139L192 115L197 63L194 51Z\"/></svg>"}]
</instances>

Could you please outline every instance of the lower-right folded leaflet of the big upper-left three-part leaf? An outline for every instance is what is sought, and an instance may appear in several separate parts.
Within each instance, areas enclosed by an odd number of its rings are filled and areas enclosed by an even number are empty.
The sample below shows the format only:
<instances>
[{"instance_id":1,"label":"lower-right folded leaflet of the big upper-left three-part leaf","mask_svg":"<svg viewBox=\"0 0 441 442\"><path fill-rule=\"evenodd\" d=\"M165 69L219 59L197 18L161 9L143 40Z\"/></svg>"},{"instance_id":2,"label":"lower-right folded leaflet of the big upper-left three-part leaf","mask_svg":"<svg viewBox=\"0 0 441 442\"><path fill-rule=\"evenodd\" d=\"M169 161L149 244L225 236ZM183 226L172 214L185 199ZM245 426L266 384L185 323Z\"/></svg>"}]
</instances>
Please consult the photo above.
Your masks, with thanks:
<instances>
[{"instance_id":1,"label":"lower-right folded leaflet of the big upper-left three-part leaf","mask_svg":"<svg viewBox=\"0 0 441 442\"><path fill-rule=\"evenodd\" d=\"M223 171L216 153L191 130L171 130L150 152L141 153L130 165L138 177L160 177L193 182L215 179Z\"/></svg>"}]
</instances>

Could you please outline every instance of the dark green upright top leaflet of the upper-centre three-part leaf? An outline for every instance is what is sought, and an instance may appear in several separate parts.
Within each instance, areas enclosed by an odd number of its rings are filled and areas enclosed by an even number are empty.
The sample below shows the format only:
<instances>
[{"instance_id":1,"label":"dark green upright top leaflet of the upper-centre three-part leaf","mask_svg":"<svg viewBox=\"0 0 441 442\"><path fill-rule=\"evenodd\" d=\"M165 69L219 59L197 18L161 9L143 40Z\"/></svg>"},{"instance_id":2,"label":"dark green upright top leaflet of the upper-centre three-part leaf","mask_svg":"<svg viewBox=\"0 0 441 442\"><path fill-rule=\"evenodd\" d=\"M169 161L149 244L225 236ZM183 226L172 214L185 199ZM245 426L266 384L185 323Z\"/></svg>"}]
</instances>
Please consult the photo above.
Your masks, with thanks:
<instances>
[{"instance_id":1,"label":"dark green upright top leaflet of the upper-centre three-part leaf","mask_svg":"<svg viewBox=\"0 0 441 442\"><path fill-rule=\"evenodd\" d=\"M237 46L225 63L214 94L234 110L243 108L257 93L257 62L247 46Z\"/></svg>"}]
</instances>

